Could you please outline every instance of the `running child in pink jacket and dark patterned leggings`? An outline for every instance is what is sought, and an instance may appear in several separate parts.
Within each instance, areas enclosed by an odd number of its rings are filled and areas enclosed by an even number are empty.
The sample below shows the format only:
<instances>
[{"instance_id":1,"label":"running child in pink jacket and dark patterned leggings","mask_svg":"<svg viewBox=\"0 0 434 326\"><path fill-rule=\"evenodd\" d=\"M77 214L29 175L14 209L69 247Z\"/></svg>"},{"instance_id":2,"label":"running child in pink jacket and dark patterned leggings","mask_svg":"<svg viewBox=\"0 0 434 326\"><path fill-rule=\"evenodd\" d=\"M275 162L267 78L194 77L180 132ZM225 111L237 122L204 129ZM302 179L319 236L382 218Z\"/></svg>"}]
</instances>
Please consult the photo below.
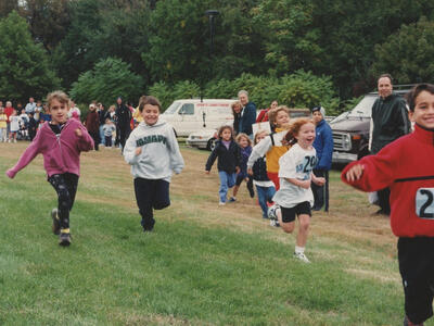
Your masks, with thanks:
<instances>
[{"instance_id":1,"label":"running child in pink jacket and dark patterned leggings","mask_svg":"<svg viewBox=\"0 0 434 326\"><path fill-rule=\"evenodd\" d=\"M43 155L48 181L58 192L58 209L51 211L52 230L60 236L59 244L71 244L69 212L73 209L80 175L80 152L93 148L93 140L80 122L68 120L69 99L63 91L47 97L51 122L46 122L27 147L18 163L7 175L13 178L38 154Z\"/></svg>"}]
</instances>

